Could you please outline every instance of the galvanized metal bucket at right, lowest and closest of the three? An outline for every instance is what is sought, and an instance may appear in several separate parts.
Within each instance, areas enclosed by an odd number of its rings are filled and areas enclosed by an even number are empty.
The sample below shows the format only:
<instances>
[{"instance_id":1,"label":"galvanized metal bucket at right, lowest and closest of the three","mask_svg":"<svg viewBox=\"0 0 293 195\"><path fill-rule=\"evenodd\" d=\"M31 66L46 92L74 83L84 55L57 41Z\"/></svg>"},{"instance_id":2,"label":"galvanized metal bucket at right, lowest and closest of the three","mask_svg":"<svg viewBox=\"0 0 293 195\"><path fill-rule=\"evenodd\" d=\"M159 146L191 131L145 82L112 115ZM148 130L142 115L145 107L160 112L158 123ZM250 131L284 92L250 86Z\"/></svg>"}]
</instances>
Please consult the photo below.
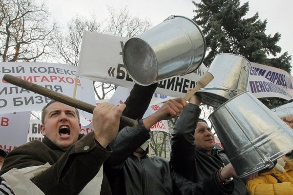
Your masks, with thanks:
<instances>
[{"instance_id":1,"label":"galvanized metal bucket at right, lowest and closest of the three","mask_svg":"<svg viewBox=\"0 0 293 195\"><path fill-rule=\"evenodd\" d=\"M210 116L238 177L273 167L293 149L293 130L250 92L218 107Z\"/></svg>"}]
</instances>

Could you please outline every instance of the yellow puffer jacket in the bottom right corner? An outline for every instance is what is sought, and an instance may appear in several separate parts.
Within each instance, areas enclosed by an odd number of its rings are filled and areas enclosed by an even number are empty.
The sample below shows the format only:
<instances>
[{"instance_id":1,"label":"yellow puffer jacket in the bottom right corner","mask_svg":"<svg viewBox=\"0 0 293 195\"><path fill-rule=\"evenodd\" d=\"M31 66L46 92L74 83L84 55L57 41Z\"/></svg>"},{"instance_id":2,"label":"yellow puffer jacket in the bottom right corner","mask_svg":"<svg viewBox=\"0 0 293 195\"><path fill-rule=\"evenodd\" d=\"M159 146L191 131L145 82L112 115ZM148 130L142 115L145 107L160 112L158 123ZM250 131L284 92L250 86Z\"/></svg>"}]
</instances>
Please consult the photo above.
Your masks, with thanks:
<instances>
[{"instance_id":1,"label":"yellow puffer jacket in the bottom right corner","mask_svg":"<svg viewBox=\"0 0 293 195\"><path fill-rule=\"evenodd\" d=\"M286 158L285 173L275 167L247 182L251 195L293 195L293 159ZM273 174L278 180L272 176Z\"/></svg>"}]
</instances>

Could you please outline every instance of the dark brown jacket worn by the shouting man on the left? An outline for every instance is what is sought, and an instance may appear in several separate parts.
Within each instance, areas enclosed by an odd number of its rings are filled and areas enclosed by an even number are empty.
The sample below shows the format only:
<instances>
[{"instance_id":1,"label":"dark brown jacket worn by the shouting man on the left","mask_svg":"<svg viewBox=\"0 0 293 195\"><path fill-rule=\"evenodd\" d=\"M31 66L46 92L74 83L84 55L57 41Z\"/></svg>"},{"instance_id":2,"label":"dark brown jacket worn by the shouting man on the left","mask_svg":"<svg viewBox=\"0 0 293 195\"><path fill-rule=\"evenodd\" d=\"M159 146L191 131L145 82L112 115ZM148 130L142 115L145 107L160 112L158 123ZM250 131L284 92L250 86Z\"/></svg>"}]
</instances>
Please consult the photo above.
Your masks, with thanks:
<instances>
[{"instance_id":1,"label":"dark brown jacket worn by the shouting man on the left","mask_svg":"<svg viewBox=\"0 0 293 195\"><path fill-rule=\"evenodd\" d=\"M5 158L0 175L12 168L52 165L31 179L46 195L78 195L84 186L99 172L111 148L103 148L93 132L82 137L67 151L44 137L12 150ZM107 178L103 177L101 195L111 194Z\"/></svg>"}]
</instances>

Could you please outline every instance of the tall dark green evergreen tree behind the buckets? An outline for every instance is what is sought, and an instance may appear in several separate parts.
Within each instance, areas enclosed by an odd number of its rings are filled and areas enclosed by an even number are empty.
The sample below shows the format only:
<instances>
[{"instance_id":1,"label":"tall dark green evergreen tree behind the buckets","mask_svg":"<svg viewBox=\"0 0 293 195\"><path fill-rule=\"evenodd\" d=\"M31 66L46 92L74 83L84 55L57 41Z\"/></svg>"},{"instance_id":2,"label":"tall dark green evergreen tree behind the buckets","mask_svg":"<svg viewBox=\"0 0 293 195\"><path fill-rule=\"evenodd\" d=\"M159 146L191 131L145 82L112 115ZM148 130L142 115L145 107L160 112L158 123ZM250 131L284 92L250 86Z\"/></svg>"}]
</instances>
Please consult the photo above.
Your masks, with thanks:
<instances>
[{"instance_id":1,"label":"tall dark green evergreen tree behind the buckets","mask_svg":"<svg viewBox=\"0 0 293 195\"><path fill-rule=\"evenodd\" d=\"M201 27L207 42L207 56L210 65L219 53L242 55L251 62L265 64L291 72L291 56L281 53L276 43L281 34L266 35L267 20L260 20L258 13L245 18L249 3L240 5L240 0L201 0L197 3L193 20ZM271 57L271 58L270 58ZM272 58L273 57L273 58ZM266 106L273 108L287 101L281 98L261 98Z\"/></svg>"}]
</instances>

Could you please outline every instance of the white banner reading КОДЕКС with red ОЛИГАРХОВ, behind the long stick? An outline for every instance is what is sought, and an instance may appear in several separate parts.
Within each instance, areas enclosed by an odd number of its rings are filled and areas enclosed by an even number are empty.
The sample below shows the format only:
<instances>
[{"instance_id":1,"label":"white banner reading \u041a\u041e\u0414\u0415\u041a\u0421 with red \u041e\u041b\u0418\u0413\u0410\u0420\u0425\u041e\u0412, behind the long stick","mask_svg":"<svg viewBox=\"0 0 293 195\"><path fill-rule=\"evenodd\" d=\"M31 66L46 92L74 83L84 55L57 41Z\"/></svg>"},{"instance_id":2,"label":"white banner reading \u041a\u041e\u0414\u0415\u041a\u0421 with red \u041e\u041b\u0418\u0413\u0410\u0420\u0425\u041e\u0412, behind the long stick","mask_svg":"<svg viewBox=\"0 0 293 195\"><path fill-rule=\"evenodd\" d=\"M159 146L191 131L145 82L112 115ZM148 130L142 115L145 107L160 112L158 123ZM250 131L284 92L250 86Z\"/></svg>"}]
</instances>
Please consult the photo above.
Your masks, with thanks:
<instances>
[{"instance_id":1,"label":"white banner reading \u041a\u041e\u0414\u0415\u041a\u0421 with red \u041e\u041b\u0418\u0413\u0410\u0420\u0425\u041e\u0412, behind the long stick","mask_svg":"<svg viewBox=\"0 0 293 195\"><path fill-rule=\"evenodd\" d=\"M5 74L22 78L41 85L55 92L73 96L77 67L65 64L39 62L0 62L0 114L42 110L51 99L7 83ZM76 98L95 105L93 83L89 79L80 78L77 85ZM81 112L88 118L91 114Z\"/></svg>"}]
</instances>

